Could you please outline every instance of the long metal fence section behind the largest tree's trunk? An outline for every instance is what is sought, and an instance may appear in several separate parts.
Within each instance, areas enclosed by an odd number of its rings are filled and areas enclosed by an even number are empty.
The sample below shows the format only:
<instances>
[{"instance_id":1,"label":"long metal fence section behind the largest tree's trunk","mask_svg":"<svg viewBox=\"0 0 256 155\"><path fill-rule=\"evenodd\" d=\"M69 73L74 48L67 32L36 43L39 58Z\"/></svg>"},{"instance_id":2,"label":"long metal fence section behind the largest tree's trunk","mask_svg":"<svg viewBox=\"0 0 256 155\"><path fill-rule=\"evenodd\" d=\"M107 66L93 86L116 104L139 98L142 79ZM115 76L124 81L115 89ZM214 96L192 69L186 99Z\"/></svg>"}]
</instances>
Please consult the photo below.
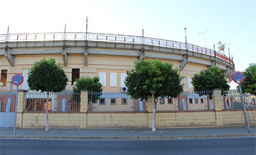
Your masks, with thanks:
<instances>
[{"instance_id":1,"label":"long metal fence section behind the largest tree's trunk","mask_svg":"<svg viewBox=\"0 0 256 155\"><path fill-rule=\"evenodd\" d=\"M183 92L178 98L158 98L158 112L213 110L211 91ZM89 93L89 112L147 112L147 101L126 93Z\"/></svg>"}]
</instances>

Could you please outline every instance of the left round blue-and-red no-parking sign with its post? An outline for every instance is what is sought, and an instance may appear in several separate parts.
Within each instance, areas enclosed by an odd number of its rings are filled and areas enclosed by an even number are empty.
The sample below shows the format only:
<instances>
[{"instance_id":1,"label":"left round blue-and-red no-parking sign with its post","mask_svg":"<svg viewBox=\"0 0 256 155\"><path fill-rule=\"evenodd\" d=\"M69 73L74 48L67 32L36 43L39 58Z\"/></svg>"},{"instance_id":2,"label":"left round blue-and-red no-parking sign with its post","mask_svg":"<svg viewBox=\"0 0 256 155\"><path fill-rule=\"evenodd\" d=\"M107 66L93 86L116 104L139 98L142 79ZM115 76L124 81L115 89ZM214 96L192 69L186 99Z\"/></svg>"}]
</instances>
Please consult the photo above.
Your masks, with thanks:
<instances>
[{"instance_id":1,"label":"left round blue-and-red no-parking sign with its post","mask_svg":"<svg viewBox=\"0 0 256 155\"><path fill-rule=\"evenodd\" d=\"M16 121L17 121L17 104L18 104L18 91L19 91L19 85L23 83L23 75L16 74L13 75L11 78L12 84L16 85L16 101L15 101L15 116L14 116L14 127L13 127L13 134L16 135Z\"/></svg>"}]
</instances>

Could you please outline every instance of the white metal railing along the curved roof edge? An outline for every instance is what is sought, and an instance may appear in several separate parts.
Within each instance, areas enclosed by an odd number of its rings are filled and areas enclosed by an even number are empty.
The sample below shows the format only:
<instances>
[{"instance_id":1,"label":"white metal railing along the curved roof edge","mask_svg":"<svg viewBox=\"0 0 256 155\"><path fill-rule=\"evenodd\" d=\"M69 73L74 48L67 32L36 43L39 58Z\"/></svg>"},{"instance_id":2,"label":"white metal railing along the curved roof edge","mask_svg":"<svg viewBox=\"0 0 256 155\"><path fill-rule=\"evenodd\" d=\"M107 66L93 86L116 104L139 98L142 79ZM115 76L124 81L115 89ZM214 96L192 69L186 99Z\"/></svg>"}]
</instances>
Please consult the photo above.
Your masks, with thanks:
<instances>
[{"instance_id":1,"label":"white metal railing along the curved roof edge","mask_svg":"<svg viewBox=\"0 0 256 155\"><path fill-rule=\"evenodd\" d=\"M87 35L87 36L86 36ZM0 34L0 43L5 42L34 42L34 41L61 41L61 40L92 40L115 43L136 43L152 46L160 46L165 48L186 49L185 43L166 40L154 39L149 37L122 35L122 34L100 34L100 33L85 33L85 32L55 32L55 33L37 33L37 34ZM194 44L188 43L188 50L191 52L199 52L209 56L215 56L222 61L229 62L233 65L230 57L221 52L214 52L213 49L203 48Z\"/></svg>"}]
</instances>

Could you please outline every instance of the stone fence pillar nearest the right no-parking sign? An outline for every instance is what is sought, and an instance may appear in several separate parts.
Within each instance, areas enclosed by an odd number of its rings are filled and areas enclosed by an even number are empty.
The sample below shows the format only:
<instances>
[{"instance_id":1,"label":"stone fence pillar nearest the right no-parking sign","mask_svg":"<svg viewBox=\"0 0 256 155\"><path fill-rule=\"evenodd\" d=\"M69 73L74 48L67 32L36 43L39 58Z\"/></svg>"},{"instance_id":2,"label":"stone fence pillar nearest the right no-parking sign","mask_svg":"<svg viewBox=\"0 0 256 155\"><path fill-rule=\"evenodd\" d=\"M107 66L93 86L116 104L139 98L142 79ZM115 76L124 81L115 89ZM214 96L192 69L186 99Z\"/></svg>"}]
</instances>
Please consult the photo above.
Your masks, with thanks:
<instances>
[{"instance_id":1,"label":"stone fence pillar nearest the right no-parking sign","mask_svg":"<svg viewBox=\"0 0 256 155\"><path fill-rule=\"evenodd\" d=\"M217 126L223 126L222 121L222 89L213 89L213 108Z\"/></svg>"}]
</instances>

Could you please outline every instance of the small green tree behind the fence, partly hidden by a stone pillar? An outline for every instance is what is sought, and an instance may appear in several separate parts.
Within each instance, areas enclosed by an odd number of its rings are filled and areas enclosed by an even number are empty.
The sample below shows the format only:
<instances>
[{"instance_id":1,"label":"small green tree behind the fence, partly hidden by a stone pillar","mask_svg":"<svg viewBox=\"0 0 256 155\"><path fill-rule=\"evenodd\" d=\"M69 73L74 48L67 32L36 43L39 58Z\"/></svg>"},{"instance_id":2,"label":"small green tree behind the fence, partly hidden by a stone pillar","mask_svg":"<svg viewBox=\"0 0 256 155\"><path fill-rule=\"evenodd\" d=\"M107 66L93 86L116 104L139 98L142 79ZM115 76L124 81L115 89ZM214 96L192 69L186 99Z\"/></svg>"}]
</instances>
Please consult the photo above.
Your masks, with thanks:
<instances>
[{"instance_id":1,"label":"small green tree behind the fence, partly hidden by a stone pillar","mask_svg":"<svg viewBox=\"0 0 256 155\"><path fill-rule=\"evenodd\" d=\"M88 90L88 102L96 103L98 98L103 92L102 84L99 82L99 78L95 76L94 78L90 77L81 77L75 81L75 87L73 87L73 92L80 92L80 90ZM77 94L77 93L75 93ZM80 103L80 97L79 103Z\"/></svg>"}]
</instances>

